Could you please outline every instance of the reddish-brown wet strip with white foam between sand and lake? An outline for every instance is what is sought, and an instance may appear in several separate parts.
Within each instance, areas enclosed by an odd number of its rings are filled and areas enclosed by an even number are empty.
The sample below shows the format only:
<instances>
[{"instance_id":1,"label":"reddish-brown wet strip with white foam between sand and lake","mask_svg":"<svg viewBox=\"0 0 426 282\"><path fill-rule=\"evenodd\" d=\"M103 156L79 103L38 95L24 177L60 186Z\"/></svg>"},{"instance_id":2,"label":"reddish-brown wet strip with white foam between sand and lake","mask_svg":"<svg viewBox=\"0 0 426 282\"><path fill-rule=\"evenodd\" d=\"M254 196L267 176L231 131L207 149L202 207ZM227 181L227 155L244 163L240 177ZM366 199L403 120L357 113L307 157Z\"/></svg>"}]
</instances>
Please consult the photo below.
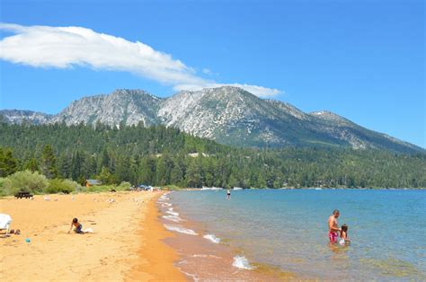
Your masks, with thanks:
<instances>
[{"instance_id":1,"label":"reddish-brown wet strip with white foam between sand and lake","mask_svg":"<svg viewBox=\"0 0 426 282\"><path fill-rule=\"evenodd\" d=\"M170 202L161 200L157 202L157 206L161 210L162 217L159 219L162 225L177 227L173 230L173 236L166 238L164 242L178 251L180 260L176 262L176 267L189 278L195 281L217 278L282 281L297 278L295 273L276 266L247 260L244 250L237 250L226 238L217 238L215 234L209 233L203 223L182 216L182 210L175 208ZM172 217L167 217L171 214Z\"/></svg>"}]
</instances>

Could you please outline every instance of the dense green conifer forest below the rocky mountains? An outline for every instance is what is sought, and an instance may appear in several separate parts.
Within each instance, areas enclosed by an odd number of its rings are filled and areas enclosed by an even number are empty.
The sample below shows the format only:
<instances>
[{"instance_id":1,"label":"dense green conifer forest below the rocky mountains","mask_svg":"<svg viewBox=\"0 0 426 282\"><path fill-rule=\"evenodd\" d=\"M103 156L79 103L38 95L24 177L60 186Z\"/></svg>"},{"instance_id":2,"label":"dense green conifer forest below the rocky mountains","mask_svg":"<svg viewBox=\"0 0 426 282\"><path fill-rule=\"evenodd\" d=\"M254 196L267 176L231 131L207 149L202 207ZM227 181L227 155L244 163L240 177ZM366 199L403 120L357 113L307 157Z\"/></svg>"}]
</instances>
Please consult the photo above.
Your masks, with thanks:
<instances>
[{"instance_id":1,"label":"dense green conifer forest below the rocky mountains","mask_svg":"<svg viewBox=\"0 0 426 282\"><path fill-rule=\"evenodd\" d=\"M376 150L235 148L175 128L0 123L0 177L181 187L424 188L426 154Z\"/></svg>"}]
</instances>

